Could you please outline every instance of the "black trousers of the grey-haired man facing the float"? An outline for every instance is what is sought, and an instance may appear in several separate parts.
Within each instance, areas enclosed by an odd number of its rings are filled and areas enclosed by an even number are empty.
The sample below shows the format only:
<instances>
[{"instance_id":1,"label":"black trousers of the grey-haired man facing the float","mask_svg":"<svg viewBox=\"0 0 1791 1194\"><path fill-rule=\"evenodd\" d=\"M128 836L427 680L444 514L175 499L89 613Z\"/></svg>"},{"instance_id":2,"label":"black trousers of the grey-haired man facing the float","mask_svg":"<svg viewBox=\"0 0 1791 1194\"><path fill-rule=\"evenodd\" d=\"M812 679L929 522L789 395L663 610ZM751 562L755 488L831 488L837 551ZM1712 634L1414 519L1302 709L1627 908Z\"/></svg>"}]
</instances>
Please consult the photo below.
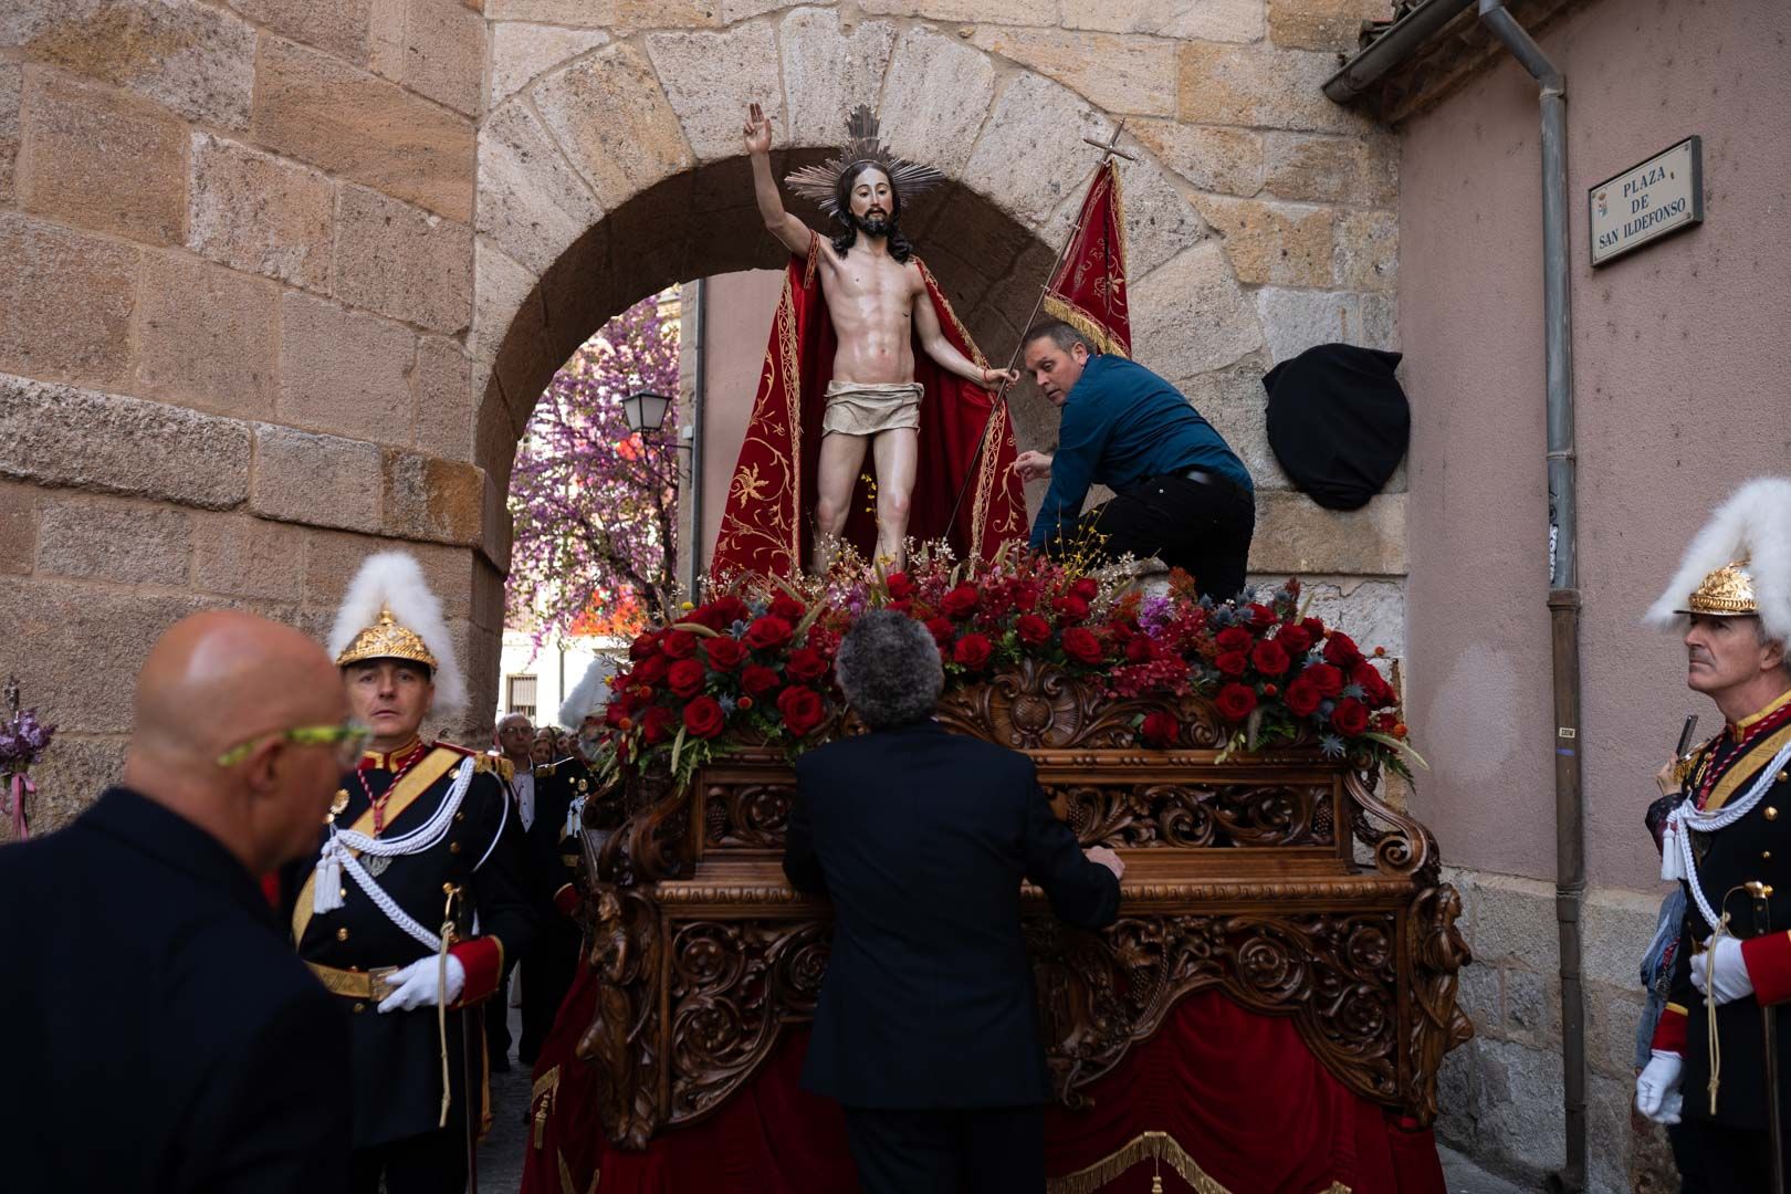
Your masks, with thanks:
<instances>
[{"instance_id":1,"label":"black trousers of the grey-haired man facing the float","mask_svg":"<svg viewBox=\"0 0 1791 1194\"><path fill-rule=\"evenodd\" d=\"M863 1194L1039 1194L1044 1108L845 1108Z\"/></svg>"}]
</instances>

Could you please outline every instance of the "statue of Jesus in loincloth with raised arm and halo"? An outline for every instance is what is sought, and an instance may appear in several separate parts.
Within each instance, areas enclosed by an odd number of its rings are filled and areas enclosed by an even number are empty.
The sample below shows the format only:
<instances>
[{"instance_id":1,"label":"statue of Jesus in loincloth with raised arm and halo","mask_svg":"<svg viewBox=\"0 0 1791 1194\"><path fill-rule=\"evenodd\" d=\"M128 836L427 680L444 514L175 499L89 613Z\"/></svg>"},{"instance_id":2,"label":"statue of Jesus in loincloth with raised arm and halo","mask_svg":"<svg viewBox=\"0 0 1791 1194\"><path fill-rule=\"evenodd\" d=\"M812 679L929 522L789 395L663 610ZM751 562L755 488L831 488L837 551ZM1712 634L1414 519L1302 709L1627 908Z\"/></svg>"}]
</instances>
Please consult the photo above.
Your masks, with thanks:
<instances>
[{"instance_id":1,"label":"statue of Jesus in loincloth with raised arm and halo","mask_svg":"<svg viewBox=\"0 0 1791 1194\"><path fill-rule=\"evenodd\" d=\"M840 158L788 179L797 193L815 199L845 227L817 243L817 233L784 211L772 177L770 118L758 104L747 109L745 147L759 215L790 252L818 251L820 290L838 338L815 482L811 562L817 573L827 571L831 544L845 528L867 444L878 478L878 559L888 567L903 567L924 399L915 381L912 342L946 372L983 388L994 388L1003 378L1017 380L1008 371L980 367L946 338L913 247L901 235L904 192L917 193L944 177L883 149L876 116L867 107L853 113L847 132L851 140Z\"/></svg>"}]
</instances>

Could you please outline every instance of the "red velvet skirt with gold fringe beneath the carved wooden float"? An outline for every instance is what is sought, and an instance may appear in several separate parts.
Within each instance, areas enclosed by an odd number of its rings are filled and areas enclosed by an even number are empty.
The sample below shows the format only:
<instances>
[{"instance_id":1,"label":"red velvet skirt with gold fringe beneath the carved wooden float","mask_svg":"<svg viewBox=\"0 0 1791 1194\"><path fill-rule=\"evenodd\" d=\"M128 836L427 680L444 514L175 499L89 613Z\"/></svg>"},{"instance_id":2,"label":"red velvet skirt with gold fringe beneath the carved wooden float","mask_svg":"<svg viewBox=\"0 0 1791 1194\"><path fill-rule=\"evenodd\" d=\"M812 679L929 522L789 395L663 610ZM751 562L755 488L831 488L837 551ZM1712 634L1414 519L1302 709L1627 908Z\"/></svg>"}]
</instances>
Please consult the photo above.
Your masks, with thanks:
<instances>
[{"instance_id":1,"label":"red velvet skirt with gold fringe beneath the carved wooden float","mask_svg":"<svg viewBox=\"0 0 1791 1194\"><path fill-rule=\"evenodd\" d=\"M806 1029L790 1029L715 1115L645 1153L613 1149L595 1115L595 1074L571 1056L589 1020L582 972L536 1069L523 1194L851 1194L845 1124L797 1088ZM1218 992L1189 995L1164 1026L1087 1090L1082 1112L1046 1115L1048 1194L1444 1194L1429 1130L1402 1128L1349 1092L1291 1020Z\"/></svg>"}]
</instances>

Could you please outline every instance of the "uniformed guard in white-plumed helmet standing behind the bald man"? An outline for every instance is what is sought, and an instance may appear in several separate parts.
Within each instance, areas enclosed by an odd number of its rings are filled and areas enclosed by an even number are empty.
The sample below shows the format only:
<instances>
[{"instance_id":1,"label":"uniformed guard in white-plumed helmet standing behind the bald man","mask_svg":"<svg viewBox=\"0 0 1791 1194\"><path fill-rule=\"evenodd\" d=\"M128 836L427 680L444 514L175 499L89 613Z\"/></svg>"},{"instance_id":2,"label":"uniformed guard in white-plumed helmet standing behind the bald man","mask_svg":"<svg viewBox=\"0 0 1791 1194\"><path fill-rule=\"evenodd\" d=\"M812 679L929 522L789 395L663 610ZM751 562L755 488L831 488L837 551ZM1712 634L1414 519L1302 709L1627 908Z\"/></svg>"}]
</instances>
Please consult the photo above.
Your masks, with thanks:
<instances>
[{"instance_id":1,"label":"uniformed guard in white-plumed helmet standing behind the bald man","mask_svg":"<svg viewBox=\"0 0 1791 1194\"><path fill-rule=\"evenodd\" d=\"M362 566L330 650L373 738L287 888L299 956L349 1011L353 1190L462 1190L489 1122L469 1010L536 920L523 832L496 759L417 736L466 705L466 680L412 557Z\"/></svg>"}]
</instances>

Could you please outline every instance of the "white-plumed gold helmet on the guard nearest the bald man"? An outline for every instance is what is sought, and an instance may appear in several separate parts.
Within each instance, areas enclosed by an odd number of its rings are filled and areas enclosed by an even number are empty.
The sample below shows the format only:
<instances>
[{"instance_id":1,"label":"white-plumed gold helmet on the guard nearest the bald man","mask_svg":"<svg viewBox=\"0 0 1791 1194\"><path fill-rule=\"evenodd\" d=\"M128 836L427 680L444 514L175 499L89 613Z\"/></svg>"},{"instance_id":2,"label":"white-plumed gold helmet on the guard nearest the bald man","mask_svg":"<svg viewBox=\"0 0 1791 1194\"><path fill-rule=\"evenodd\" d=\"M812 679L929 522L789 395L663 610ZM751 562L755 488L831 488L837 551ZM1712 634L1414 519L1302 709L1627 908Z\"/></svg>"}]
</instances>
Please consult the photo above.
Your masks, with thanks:
<instances>
[{"instance_id":1,"label":"white-plumed gold helmet on the guard nearest the bald man","mask_svg":"<svg viewBox=\"0 0 1791 1194\"><path fill-rule=\"evenodd\" d=\"M466 677L448 637L442 605L407 551L369 555L337 609L330 632L337 668L371 659L423 664L435 680L437 712L466 707Z\"/></svg>"}]
</instances>

